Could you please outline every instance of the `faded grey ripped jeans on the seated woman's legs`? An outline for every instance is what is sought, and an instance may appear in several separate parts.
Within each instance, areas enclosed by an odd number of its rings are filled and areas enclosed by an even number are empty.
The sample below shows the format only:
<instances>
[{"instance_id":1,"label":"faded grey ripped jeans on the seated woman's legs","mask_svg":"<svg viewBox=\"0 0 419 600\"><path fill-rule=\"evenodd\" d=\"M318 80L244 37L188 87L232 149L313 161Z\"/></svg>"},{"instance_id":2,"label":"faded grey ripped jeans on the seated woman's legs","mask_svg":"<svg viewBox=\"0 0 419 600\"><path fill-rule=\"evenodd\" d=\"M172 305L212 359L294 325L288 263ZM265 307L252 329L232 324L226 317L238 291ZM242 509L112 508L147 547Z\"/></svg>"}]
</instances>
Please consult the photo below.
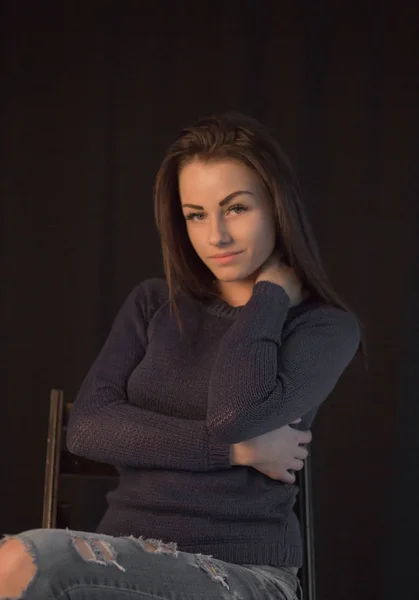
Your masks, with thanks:
<instances>
[{"instance_id":1,"label":"faded grey ripped jeans on the seated woman's legs","mask_svg":"<svg viewBox=\"0 0 419 600\"><path fill-rule=\"evenodd\" d=\"M26 600L294 600L300 590L289 567L237 565L177 550L176 543L64 529L34 529L19 540L30 576L17 573ZM4 554L3 554L4 556ZM29 561L27 561L29 562ZM20 575L20 578L19 578ZM10 577L10 576L9 576ZM6 579L9 581L9 579ZM0 579L0 589L8 589Z\"/></svg>"}]
</instances>

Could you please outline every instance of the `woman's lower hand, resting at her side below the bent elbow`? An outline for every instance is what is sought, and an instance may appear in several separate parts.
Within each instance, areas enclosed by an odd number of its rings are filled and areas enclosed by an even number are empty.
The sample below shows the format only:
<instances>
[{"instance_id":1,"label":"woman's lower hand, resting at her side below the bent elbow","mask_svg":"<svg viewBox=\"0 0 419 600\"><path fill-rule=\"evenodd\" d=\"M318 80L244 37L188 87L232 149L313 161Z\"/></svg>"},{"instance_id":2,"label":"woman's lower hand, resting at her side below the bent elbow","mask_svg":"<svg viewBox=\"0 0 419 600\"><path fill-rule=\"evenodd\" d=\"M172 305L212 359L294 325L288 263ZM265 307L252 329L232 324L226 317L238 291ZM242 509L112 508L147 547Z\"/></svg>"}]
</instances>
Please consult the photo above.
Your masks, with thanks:
<instances>
[{"instance_id":1,"label":"woman's lower hand, resting at her side below the bent elbow","mask_svg":"<svg viewBox=\"0 0 419 600\"><path fill-rule=\"evenodd\" d=\"M294 423L300 423L297 419ZM271 479L283 483L294 483L295 475L289 471L300 471L308 450L302 444L312 440L311 431L300 431L289 425L269 431L231 447L231 464L253 467Z\"/></svg>"}]
</instances>

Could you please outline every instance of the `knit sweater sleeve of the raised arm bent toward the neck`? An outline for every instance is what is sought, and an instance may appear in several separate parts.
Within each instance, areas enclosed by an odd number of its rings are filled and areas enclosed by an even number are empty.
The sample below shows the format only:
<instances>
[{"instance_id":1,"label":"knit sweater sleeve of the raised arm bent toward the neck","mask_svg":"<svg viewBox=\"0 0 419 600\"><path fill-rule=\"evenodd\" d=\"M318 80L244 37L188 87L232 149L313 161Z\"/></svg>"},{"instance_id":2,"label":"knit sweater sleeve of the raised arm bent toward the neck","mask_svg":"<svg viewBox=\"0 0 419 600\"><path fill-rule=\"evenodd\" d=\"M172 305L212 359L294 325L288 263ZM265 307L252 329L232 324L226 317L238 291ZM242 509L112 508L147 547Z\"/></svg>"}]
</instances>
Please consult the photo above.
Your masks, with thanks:
<instances>
[{"instance_id":1,"label":"knit sweater sleeve of the raised arm bent toward the neck","mask_svg":"<svg viewBox=\"0 0 419 600\"><path fill-rule=\"evenodd\" d=\"M231 444L283 427L332 392L360 341L356 318L316 306L283 330L285 290L261 281L222 340L211 373L207 424Z\"/></svg>"}]
</instances>

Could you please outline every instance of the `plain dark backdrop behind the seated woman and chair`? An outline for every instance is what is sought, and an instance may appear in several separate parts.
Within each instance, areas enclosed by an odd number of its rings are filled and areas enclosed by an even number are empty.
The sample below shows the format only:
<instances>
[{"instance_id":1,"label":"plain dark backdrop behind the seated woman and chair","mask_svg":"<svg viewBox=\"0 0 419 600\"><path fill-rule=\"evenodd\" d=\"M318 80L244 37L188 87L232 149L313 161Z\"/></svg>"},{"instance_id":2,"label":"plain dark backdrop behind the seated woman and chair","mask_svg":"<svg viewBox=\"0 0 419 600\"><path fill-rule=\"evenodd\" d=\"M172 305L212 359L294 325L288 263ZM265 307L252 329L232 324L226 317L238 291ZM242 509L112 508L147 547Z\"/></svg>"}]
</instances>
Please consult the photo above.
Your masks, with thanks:
<instances>
[{"instance_id":1,"label":"plain dark backdrop behind the seated woman and chair","mask_svg":"<svg viewBox=\"0 0 419 600\"><path fill-rule=\"evenodd\" d=\"M41 522L50 387L76 393L161 275L152 185L178 130L238 109L302 182L367 327L313 442L320 600L419 596L416 2L1 2L0 530Z\"/></svg>"}]
</instances>

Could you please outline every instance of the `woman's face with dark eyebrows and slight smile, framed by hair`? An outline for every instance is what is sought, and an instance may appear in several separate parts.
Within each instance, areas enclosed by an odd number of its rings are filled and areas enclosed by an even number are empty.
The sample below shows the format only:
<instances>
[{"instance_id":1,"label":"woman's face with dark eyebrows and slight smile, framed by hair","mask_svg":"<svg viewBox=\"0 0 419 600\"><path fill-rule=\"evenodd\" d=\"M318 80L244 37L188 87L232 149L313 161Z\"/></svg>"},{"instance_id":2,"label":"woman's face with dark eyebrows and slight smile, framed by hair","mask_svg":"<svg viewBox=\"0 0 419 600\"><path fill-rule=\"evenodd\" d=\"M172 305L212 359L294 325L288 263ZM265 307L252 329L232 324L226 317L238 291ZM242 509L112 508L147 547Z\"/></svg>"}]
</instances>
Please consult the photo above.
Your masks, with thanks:
<instances>
[{"instance_id":1,"label":"woman's face with dark eyebrows and slight smile, framed by hair","mask_svg":"<svg viewBox=\"0 0 419 600\"><path fill-rule=\"evenodd\" d=\"M189 239L220 281L251 279L275 248L272 203L249 167L195 159L179 174ZM225 258L216 255L235 253Z\"/></svg>"}]
</instances>

